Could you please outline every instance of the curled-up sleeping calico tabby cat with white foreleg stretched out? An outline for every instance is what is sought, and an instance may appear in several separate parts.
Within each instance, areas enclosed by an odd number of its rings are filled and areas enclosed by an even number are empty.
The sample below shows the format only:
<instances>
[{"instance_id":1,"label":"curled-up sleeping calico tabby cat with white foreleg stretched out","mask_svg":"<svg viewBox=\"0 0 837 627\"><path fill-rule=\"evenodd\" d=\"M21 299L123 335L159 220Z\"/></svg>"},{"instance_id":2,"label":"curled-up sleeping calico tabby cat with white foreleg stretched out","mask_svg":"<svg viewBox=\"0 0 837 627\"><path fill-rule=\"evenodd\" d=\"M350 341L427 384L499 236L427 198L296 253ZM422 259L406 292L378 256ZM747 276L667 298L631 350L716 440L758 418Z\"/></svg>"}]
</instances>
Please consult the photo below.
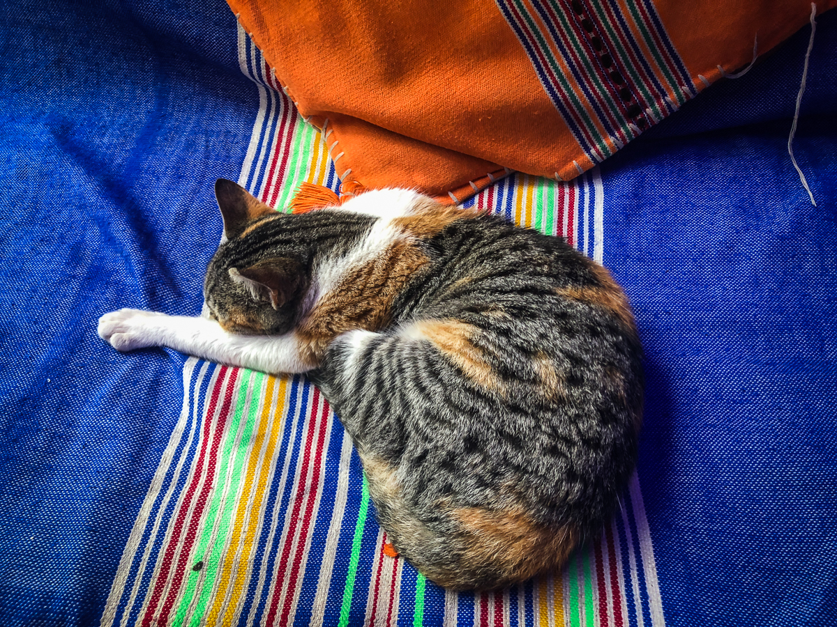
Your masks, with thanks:
<instances>
[{"instance_id":1,"label":"curled-up sleeping calico tabby cat with white foreleg stretched out","mask_svg":"<svg viewBox=\"0 0 837 627\"><path fill-rule=\"evenodd\" d=\"M277 213L215 186L208 318L122 309L116 349L305 372L352 436L378 519L452 589L565 562L634 468L642 370L607 270L557 237L406 190Z\"/></svg>"}]
</instances>

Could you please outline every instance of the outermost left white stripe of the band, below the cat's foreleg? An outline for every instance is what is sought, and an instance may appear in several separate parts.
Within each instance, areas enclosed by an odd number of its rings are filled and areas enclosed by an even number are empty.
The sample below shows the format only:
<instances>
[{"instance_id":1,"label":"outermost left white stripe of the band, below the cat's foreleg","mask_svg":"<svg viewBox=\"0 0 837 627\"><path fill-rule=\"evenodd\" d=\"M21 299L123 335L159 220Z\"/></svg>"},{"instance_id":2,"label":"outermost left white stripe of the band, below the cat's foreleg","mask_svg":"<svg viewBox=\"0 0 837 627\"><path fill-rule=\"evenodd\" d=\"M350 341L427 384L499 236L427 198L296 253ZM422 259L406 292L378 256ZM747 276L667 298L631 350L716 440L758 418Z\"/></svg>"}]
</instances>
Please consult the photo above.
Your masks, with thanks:
<instances>
[{"instance_id":1,"label":"outermost left white stripe of the band, below the cat's foreleg","mask_svg":"<svg viewBox=\"0 0 837 627\"><path fill-rule=\"evenodd\" d=\"M195 364L197 363L198 359L190 357L186 360L186 364L183 364L183 403L180 411L180 417L177 419L177 425L174 427L174 431L172 431L172 435L168 439L166 450L163 451L160 464L157 466L157 472L155 472L154 477L151 478L151 485L148 487L146 498L142 502L139 513L136 515L134 527L131 528L131 535L128 537L125 549L122 551L119 567L116 569L116 577L113 580L113 584L110 586L110 594L108 594L108 599L105 603L105 611L102 612L102 625L110 627L110 625L113 624L113 620L116 618L116 609L122 599L122 593L125 590L128 575L131 573L131 563L133 562L134 555L140 546L142 535L148 527L148 517L151 514L151 507L154 507L157 495L159 495L160 490L162 489L162 483L166 479L168 468L172 465L174 451L177 450L177 445L180 443L183 431L186 431L186 423L189 417L190 385L192 385L192 373L195 368ZM200 383L198 381L198 386L199 385ZM182 457L183 456L181 456L181 459L179 460L180 464L182 464ZM171 494L176 477L177 472L175 472L172 477L172 485L169 487L167 494ZM159 520L159 516L157 517L157 520ZM151 533L152 538L153 536L154 534Z\"/></svg>"}]
</instances>

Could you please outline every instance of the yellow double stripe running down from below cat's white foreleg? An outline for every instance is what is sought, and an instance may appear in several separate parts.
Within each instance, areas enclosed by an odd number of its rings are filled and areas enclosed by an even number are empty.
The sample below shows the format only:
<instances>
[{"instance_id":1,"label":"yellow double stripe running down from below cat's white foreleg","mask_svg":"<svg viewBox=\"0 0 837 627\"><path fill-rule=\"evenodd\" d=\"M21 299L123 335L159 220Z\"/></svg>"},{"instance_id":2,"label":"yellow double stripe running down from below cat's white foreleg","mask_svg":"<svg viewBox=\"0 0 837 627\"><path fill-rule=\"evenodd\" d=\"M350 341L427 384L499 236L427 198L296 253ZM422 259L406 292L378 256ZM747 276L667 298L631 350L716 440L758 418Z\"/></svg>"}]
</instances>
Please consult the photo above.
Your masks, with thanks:
<instances>
[{"instance_id":1,"label":"yellow double stripe running down from below cat's white foreleg","mask_svg":"<svg viewBox=\"0 0 837 627\"><path fill-rule=\"evenodd\" d=\"M249 495L254 486L255 493L253 497L253 507L250 509L250 513L251 515L254 514L258 518L261 510L262 500L264 499L264 490L267 487L268 477L270 476L270 468L273 466L276 441L279 439L282 431L281 416L285 415L285 405L287 405L285 391L287 390L288 380L283 378L279 380L279 394L277 395L278 402L276 403L276 411L274 414L275 421L273 423L273 428L270 430L270 434L268 434L268 425L270 424L270 405L272 405L275 382L276 377L268 377L267 389L264 391L264 407L262 408L262 415L259 419L259 431L254 441L253 450L250 453L249 465L247 466L247 479L244 483L241 501L239 502L239 510L235 514L233 542L230 543L229 549L224 557L222 570L223 579L221 579L221 584L218 586L218 593L215 595L215 604L213 605L212 611L208 615L206 624L217 623L223 599L226 597L229 575L233 572L235 553L237 552L239 538L241 537L241 530L244 528L244 517L247 509L247 502L249 501L249 498L245 497L245 495ZM268 441L267 451L264 451L264 463L261 466L258 480L254 481L256 467L259 464L259 451L261 450L261 443L267 435L270 435L270 441ZM247 564L249 563L250 553L253 551L253 540L257 528L258 525L255 520L248 521L247 534L244 537L244 542L241 547L239 568L235 573L235 580L232 583L232 596L229 599L229 605L227 606L227 611L223 615L223 622L221 623L224 627L229 627L229 625L233 624L235 606L238 604L239 597L244 591L244 577L247 574Z\"/></svg>"}]
</instances>

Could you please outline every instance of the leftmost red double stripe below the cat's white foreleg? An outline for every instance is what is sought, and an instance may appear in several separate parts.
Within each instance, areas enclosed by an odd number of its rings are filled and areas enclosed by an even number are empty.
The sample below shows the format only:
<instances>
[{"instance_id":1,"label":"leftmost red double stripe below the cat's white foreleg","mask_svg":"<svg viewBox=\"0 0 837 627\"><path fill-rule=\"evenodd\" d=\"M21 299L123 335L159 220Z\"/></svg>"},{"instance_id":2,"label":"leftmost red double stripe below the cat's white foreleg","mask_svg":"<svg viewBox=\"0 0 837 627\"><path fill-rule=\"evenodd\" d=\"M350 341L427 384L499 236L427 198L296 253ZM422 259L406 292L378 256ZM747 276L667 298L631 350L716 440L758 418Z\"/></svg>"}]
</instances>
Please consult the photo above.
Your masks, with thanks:
<instances>
[{"instance_id":1,"label":"leftmost red double stripe below the cat's white foreleg","mask_svg":"<svg viewBox=\"0 0 837 627\"><path fill-rule=\"evenodd\" d=\"M220 445L221 437L223 435L223 425L227 420L227 415L229 414L229 405L232 402L233 388L235 387L234 384L235 380L238 377L238 374L238 370L228 369L226 366L221 366L221 370L218 371L218 379L215 380L215 386L213 387L212 396L209 400L209 407L206 413L206 418L203 421L204 437L203 442L201 444L201 451L198 455L198 462L195 465L195 472L193 474L192 481L189 483L189 487L187 488L186 494L183 497L180 509L177 512L177 519L175 520L174 526L172 528L172 536L171 538L169 538L169 541L167 543L165 553L163 555L162 564L160 565L160 572L157 574L157 583L154 585L154 590L151 592L151 597L148 600L146 614L142 617L141 624L143 625L143 627L149 627L151 625L151 618L154 615L155 610L157 609L157 604L160 603L162 590L166 587L168 574L171 571L172 563L174 562L174 553L177 551L177 543L180 540L180 534L183 530L183 521L186 518L189 505L192 503L192 497L194 495L194 492L198 489L198 483L200 483L201 475L203 474L203 461L206 459L207 446L209 446L209 428L215 416L215 408L218 405L218 397L221 395L221 390L223 389L224 385L224 379L227 378L227 375L229 375L229 381L227 382L227 391L224 395L221 411L218 414L218 426L215 429L215 437L212 441L212 446L209 451L208 476L206 481L203 482L203 489L201 490L201 493L198 496L197 506L195 507L195 512L189 521L189 528L187 529L186 539L183 543L182 551L177 560L178 568L177 572L175 573L175 578L178 580L177 585L179 587L179 580L182 579L183 574L182 568L179 568L179 566L183 560L188 558L189 549L192 548L192 543L195 535L193 527L197 524L198 520L200 519L201 513L203 512L203 506L206 504L206 493L212 487L212 478L215 472L215 460L218 456L218 446ZM167 607L163 608L163 612L168 614L168 610L170 609L171 604L168 604L167 598ZM158 624L165 624L165 621L162 619L157 622Z\"/></svg>"}]
</instances>

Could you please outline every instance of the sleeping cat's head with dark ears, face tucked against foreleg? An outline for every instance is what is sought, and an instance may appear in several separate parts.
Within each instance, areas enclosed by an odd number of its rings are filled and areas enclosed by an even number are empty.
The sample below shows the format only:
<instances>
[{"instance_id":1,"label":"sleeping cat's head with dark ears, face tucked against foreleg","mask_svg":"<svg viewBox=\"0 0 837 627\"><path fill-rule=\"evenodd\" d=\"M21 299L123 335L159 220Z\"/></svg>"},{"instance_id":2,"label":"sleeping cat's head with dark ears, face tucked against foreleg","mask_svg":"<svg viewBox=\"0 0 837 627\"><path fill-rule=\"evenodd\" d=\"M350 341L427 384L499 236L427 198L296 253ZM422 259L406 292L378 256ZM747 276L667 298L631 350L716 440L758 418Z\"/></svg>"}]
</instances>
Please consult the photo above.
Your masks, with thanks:
<instances>
[{"instance_id":1,"label":"sleeping cat's head with dark ears, face tucked against foreleg","mask_svg":"<svg viewBox=\"0 0 837 627\"><path fill-rule=\"evenodd\" d=\"M279 225L266 223L285 215L244 187L218 179L215 198L223 217L223 241L203 285L210 316L231 333L287 333L310 282L305 250L270 246L264 231Z\"/></svg>"}]
</instances>

